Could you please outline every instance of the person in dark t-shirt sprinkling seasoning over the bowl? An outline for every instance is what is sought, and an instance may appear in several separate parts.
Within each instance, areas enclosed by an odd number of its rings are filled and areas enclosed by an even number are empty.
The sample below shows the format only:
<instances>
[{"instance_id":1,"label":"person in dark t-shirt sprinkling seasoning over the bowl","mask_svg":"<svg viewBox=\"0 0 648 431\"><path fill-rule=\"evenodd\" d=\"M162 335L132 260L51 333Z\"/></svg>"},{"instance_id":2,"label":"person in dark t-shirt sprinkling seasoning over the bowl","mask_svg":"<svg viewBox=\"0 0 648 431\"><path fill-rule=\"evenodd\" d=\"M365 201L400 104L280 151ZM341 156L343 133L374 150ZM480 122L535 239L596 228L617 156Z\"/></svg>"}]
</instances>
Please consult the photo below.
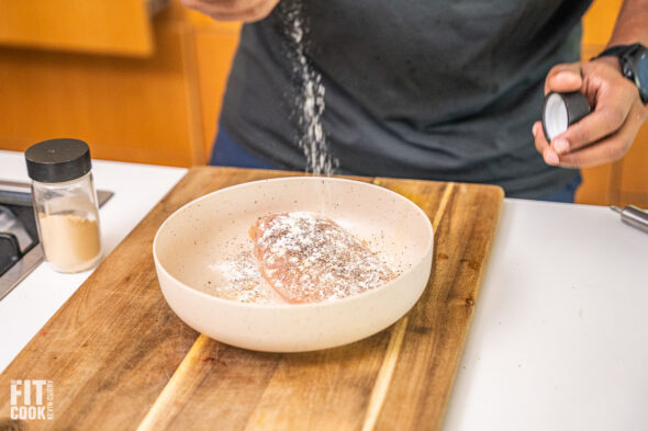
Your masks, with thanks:
<instances>
[{"instance_id":1,"label":"person in dark t-shirt sprinkling seasoning over the bowl","mask_svg":"<svg viewBox=\"0 0 648 431\"><path fill-rule=\"evenodd\" d=\"M286 53L294 1L183 0L246 23L212 165L304 169ZM573 202L579 169L619 159L648 117L617 57L580 60L590 4L301 0L336 172L492 183L512 197ZM625 0L608 46L648 45L647 22L648 0ZM594 106L551 141L538 121L549 91L581 91Z\"/></svg>"}]
</instances>

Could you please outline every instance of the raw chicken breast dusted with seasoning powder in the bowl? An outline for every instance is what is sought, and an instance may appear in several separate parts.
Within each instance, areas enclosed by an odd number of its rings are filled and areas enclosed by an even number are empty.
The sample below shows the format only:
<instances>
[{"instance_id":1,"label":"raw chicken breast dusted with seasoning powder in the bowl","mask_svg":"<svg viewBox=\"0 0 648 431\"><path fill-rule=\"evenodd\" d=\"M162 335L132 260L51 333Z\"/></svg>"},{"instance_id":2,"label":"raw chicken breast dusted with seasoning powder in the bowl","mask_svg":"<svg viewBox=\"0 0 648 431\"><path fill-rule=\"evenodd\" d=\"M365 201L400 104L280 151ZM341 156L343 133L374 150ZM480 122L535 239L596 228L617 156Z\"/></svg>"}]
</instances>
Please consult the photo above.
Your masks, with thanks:
<instances>
[{"instance_id":1,"label":"raw chicken breast dusted with seasoning powder in the bowl","mask_svg":"<svg viewBox=\"0 0 648 431\"><path fill-rule=\"evenodd\" d=\"M260 217L249 236L264 279L290 303L344 298L395 277L379 253L312 213Z\"/></svg>"}]
</instances>

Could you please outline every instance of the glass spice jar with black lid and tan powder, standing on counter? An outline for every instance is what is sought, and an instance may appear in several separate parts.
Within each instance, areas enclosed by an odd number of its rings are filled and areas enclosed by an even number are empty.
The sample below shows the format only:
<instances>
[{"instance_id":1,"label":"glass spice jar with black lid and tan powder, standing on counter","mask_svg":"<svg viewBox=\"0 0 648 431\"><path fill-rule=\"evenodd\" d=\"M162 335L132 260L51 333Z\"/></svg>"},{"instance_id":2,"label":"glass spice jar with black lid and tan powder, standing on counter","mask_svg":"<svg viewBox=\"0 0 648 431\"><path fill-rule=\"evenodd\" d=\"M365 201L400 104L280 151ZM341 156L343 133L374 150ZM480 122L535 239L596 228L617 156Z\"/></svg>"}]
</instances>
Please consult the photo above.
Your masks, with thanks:
<instances>
[{"instance_id":1,"label":"glass spice jar with black lid and tan powder, standing on counter","mask_svg":"<svg viewBox=\"0 0 648 431\"><path fill-rule=\"evenodd\" d=\"M25 151L45 260L58 272L80 272L101 259L99 209L90 148L51 139Z\"/></svg>"}]
</instances>

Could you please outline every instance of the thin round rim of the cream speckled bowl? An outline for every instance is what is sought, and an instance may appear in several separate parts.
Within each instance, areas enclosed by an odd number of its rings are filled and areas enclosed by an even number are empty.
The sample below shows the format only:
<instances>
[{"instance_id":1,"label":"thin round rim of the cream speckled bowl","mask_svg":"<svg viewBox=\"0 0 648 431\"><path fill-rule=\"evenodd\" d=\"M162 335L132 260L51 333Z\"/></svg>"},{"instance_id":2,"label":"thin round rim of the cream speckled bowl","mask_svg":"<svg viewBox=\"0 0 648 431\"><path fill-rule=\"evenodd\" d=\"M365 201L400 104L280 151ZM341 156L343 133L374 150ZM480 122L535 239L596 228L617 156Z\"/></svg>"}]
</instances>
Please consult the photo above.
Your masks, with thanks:
<instances>
[{"instance_id":1,"label":"thin round rim of the cream speckled bowl","mask_svg":"<svg viewBox=\"0 0 648 431\"><path fill-rule=\"evenodd\" d=\"M390 280L389 282L384 283L383 285L381 285L379 287L370 288L370 290L361 292L359 294L347 296L347 297L339 298L339 299L322 300L319 303L304 303L304 304L257 304L257 303L242 303L242 302L237 302L237 300L225 299L220 296L212 295L206 292L202 292L195 287L191 287L191 286L187 285L186 283L181 282L180 280L178 280L177 277L171 275L166 270L166 268L160 263L160 261L157 257L157 252L156 252L157 239L160 236L160 232L163 231L163 229L165 228L167 223L169 223L169 220L171 220L175 216L177 216L185 208L195 205L199 202L208 200L212 195L219 194L221 192L232 191L235 189L242 189L242 188L252 186L252 185L258 185L258 184L268 183L268 182L283 182L283 181L286 181L286 182L292 182L292 181L350 182L354 184L360 184L362 186L380 189L380 191L382 191L382 192L387 192L388 194L392 194L392 195L396 196L398 199L405 201L409 205L413 206L414 209L418 213L418 215L423 216L423 218L427 222L425 224L425 226L426 226L426 229L428 232L428 241L425 247L425 251L423 253L423 259L420 259L409 271L403 272L402 274L400 274L395 279ZM333 306L338 306L340 304L348 304L348 303L353 303L356 300L362 300L362 298L366 298L370 295L377 295L380 291L384 291L384 290L389 288L390 286L392 286L396 282L401 281L403 277L405 277L409 274L411 274L412 272L414 272L414 270L416 268L418 268L421 264L425 263L425 261L426 261L425 257L428 254L432 254L433 249L434 249L434 229L433 229L432 222L431 222L429 217L427 216L427 214L423 209L421 209L421 207L418 205L416 205L414 202L412 202L407 197L403 196L402 194L396 193L393 190L390 190L388 188L383 188L383 186L380 186L380 185L377 185L377 184L373 184L370 182L349 180L346 178L294 175L294 177L280 177L280 178L270 178L270 179L265 179L265 180L255 180L255 181L248 181L248 182L244 182L244 183L239 183L239 184L230 185L230 186L226 186L223 189L214 190L213 192L206 193L200 197L194 199L193 201L186 203L185 205L182 205L181 207L176 209L174 213L171 213L157 229L157 231L155 234L155 238L153 240L153 259L155 262L155 266L158 271L161 271L165 276L172 280L178 286L180 286L180 290L188 291L192 295L198 295L199 297L203 297L208 300L215 300L216 303L222 303L223 305L226 305L226 306L241 307L244 309L268 309L268 310L281 309L282 310L282 309L308 309L308 308L314 308L314 307L319 307L319 308L333 307ZM434 259L434 257L433 257L433 259ZM432 266L432 262L431 262L431 266ZM158 276L158 283L159 283L159 276ZM161 283L159 283L159 285L160 285L160 290L163 291L163 294L164 294L164 288L161 286Z\"/></svg>"}]
</instances>

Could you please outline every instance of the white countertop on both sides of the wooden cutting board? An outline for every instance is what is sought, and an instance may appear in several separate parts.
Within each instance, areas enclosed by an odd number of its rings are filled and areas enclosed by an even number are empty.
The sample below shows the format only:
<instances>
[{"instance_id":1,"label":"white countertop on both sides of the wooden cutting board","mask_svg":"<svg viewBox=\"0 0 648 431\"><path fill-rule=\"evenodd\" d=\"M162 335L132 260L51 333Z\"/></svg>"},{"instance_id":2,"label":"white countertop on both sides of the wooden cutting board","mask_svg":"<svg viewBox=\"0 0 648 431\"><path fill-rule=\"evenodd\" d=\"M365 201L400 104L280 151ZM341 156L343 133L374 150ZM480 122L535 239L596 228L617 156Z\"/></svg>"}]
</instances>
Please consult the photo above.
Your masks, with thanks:
<instances>
[{"instance_id":1,"label":"white countertop on both sides of the wooden cutting board","mask_svg":"<svg viewBox=\"0 0 648 431\"><path fill-rule=\"evenodd\" d=\"M94 161L107 253L183 169ZM26 181L0 151L0 179ZM89 273L38 266L0 300L0 370ZM604 207L505 200L445 431L648 429L648 235ZM8 390L2 389L0 390Z\"/></svg>"}]
</instances>

